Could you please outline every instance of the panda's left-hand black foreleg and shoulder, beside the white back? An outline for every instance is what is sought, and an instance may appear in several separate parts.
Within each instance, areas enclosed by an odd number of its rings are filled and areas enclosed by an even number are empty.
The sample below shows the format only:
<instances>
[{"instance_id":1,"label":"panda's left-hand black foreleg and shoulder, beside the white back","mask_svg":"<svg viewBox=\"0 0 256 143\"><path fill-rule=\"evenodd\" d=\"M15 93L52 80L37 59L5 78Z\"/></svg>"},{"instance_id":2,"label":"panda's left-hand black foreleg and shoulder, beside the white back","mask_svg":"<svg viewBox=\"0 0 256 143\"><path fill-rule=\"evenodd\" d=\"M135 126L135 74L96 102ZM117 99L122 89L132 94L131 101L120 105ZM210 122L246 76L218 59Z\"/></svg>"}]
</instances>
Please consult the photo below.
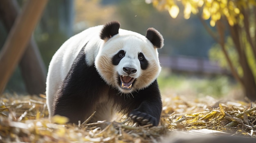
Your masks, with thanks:
<instances>
[{"instance_id":1,"label":"panda's left-hand black foreleg and shoulder, beside the white back","mask_svg":"<svg viewBox=\"0 0 256 143\"><path fill-rule=\"evenodd\" d=\"M86 46L86 45L85 45ZM53 114L68 117L71 123L84 121L96 109L95 101L108 86L95 67L85 63L84 48L79 52L53 103ZM98 90L100 87L102 90Z\"/></svg>"}]
</instances>

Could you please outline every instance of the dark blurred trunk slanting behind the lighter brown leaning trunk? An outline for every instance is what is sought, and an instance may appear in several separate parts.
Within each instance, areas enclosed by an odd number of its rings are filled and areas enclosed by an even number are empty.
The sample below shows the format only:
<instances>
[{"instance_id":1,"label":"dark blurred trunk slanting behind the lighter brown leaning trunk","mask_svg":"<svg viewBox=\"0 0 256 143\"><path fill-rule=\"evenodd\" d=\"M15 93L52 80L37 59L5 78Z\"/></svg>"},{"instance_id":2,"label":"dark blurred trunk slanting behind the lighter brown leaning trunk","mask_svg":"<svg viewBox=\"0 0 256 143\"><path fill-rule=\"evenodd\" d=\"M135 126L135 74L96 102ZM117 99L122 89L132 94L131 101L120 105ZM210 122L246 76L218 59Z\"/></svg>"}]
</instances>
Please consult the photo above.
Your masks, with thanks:
<instances>
[{"instance_id":1,"label":"dark blurred trunk slanting behind the lighter brown leaning trunk","mask_svg":"<svg viewBox=\"0 0 256 143\"><path fill-rule=\"evenodd\" d=\"M16 0L0 1L0 18L2 19L7 31L11 30L18 13L19 6ZM29 40L19 65L27 92L31 95L44 93L46 69L33 38Z\"/></svg>"}]
</instances>

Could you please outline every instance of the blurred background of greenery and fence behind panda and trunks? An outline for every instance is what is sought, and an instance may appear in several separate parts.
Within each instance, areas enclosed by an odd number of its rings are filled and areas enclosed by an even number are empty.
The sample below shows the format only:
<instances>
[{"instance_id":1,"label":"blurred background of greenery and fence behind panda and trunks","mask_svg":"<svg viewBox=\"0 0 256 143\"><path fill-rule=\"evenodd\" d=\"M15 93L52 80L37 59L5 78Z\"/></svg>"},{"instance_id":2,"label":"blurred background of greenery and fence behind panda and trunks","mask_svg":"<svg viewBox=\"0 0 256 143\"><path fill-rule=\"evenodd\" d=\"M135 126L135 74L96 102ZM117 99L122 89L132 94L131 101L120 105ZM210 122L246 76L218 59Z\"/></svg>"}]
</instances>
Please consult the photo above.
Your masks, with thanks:
<instances>
[{"instance_id":1,"label":"blurred background of greenery and fence behind panda and trunks","mask_svg":"<svg viewBox=\"0 0 256 143\"><path fill-rule=\"evenodd\" d=\"M17 2L22 7L26 0ZM233 78L227 64L223 64L220 46L205 28L204 24L216 30L210 26L210 20L202 22L198 15L193 14L185 19L182 12L172 18L168 11L159 10L150 2L49 0L34 31L45 69L53 54L69 37L91 26L117 20L123 29L145 35L147 28L154 27L163 35L164 48L159 50L162 72L158 82L164 95L241 97L240 84ZM7 35L8 30L0 21L0 47ZM27 94L19 66L4 92Z\"/></svg>"}]
</instances>

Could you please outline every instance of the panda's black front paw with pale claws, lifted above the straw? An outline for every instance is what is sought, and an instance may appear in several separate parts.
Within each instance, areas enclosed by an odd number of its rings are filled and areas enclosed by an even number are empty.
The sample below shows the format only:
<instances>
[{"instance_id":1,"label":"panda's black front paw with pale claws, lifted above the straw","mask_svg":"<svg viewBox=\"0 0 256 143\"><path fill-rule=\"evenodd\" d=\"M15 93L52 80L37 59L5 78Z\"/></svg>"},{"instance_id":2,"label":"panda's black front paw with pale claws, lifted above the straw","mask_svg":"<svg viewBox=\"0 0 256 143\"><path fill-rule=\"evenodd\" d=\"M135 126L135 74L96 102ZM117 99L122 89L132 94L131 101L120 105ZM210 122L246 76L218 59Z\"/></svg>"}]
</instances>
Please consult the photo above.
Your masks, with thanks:
<instances>
[{"instance_id":1,"label":"panda's black front paw with pale claws, lifted above the straw","mask_svg":"<svg viewBox=\"0 0 256 143\"><path fill-rule=\"evenodd\" d=\"M133 121L137 122L141 126L147 124L153 124L153 126L157 126L157 119L147 113L132 111L129 114L129 117L131 117Z\"/></svg>"}]
</instances>

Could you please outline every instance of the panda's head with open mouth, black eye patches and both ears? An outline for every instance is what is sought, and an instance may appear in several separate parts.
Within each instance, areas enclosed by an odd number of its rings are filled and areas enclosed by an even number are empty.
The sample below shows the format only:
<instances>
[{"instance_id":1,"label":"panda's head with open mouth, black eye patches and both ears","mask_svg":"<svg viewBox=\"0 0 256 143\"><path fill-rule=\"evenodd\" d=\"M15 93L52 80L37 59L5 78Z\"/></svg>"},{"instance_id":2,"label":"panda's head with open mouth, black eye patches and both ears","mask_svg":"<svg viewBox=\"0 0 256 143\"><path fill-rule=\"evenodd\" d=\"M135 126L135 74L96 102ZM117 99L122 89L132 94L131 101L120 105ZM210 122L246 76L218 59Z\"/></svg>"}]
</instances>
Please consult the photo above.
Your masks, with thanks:
<instances>
[{"instance_id":1,"label":"panda's head with open mouth, black eye patches and both ears","mask_svg":"<svg viewBox=\"0 0 256 143\"><path fill-rule=\"evenodd\" d=\"M163 47L163 37L154 28L148 28L145 37L119 27L119 22L103 26L100 38L104 42L95 66L108 85L132 93L148 87L159 75L157 49Z\"/></svg>"}]
</instances>

